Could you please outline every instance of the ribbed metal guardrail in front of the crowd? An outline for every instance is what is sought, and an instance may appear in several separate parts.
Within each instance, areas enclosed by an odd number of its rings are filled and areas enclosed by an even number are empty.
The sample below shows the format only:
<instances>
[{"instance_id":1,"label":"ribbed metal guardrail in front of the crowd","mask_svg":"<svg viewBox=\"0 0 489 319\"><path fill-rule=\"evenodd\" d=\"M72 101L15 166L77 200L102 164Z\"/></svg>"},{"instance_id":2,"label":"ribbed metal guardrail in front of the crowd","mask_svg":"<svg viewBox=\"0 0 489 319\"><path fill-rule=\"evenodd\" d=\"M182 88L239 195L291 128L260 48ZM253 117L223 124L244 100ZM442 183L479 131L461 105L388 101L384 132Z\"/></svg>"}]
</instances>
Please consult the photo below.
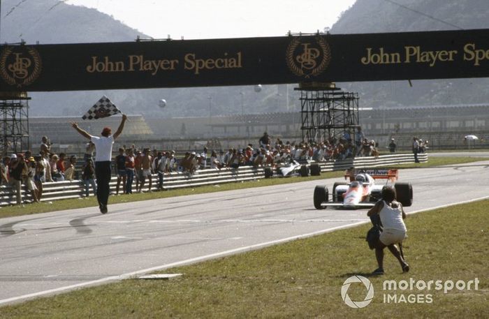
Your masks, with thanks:
<instances>
[{"instance_id":1,"label":"ribbed metal guardrail in front of the crowd","mask_svg":"<svg viewBox=\"0 0 489 319\"><path fill-rule=\"evenodd\" d=\"M420 162L428 161L428 154L418 154ZM378 157L358 157L355 159L346 159L343 161L329 161L319 163L303 164L300 170L302 176L319 175L321 172L330 172L333 170L346 170L354 166L355 168L375 168L386 165L397 165L404 163L414 163L413 154L393 154ZM316 165L315 165L316 164ZM316 166L317 168L314 168ZM319 169L318 169L319 168ZM223 168L221 170L198 170L194 175L181 172L171 172L166 174L163 179L164 189L185 188L194 186L205 186L224 184L237 181L249 181L253 179L265 178L265 168L253 168L251 166L242 166L238 169ZM156 190L158 184L158 175L152 176L152 190ZM117 177L110 180L110 192L115 193ZM145 184L147 189L147 183ZM122 186L121 186L122 190ZM93 196L92 188L89 195ZM43 184L43 195L41 202L53 200L63 200L68 198L82 198L85 196L85 185L80 180L75 181L55 181ZM23 202L31 202L31 195L22 185ZM0 206L15 205L16 198L11 186L0 186Z\"/></svg>"}]
</instances>

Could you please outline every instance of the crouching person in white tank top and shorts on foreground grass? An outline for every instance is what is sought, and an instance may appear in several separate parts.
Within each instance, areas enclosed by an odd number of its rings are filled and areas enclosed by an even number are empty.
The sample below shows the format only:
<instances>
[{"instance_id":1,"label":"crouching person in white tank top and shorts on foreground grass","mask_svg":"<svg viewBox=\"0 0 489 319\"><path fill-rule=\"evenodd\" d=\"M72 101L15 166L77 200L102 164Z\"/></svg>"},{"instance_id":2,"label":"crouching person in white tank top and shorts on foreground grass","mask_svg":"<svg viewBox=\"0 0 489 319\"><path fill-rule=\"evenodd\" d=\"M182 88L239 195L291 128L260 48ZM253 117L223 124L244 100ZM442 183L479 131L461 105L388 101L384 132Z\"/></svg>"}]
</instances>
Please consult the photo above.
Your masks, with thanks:
<instances>
[{"instance_id":1,"label":"crouching person in white tank top and shorts on foreground grass","mask_svg":"<svg viewBox=\"0 0 489 319\"><path fill-rule=\"evenodd\" d=\"M399 260L402 272L409 272L409 265L402 255L402 241L406 236L406 225L403 219L406 218L404 209L400 202L395 200L395 189L391 186L385 186L382 189L382 199L375 203L367 216L374 224L374 227L367 234L367 242L370 248L375 248L375 257L379 268L375 269L372 274L384 274L384 248ZM395 246L399 243L401 251Z\"/></svg>"}]
</instances>

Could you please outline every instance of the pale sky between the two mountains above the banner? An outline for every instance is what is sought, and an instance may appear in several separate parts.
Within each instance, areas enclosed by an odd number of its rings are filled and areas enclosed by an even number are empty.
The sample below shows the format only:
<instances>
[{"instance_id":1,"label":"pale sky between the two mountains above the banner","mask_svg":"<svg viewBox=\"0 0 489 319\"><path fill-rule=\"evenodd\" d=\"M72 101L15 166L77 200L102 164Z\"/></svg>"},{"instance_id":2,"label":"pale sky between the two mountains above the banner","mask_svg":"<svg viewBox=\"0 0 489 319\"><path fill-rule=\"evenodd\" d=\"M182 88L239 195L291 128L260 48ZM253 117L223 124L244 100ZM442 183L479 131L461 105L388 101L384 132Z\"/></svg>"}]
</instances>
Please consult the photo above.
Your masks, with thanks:
<instances>
[{"instance_id":1,"label":"pale sky between the two mountains above the banner","mask_svg":"<svg viewBox=\"0 0 489 319\"><path fill-rule=\"evenodd\" d=\"M153 38L285 36L331 27L356 0L67 0Z\"/></svg>"}]
</instances>

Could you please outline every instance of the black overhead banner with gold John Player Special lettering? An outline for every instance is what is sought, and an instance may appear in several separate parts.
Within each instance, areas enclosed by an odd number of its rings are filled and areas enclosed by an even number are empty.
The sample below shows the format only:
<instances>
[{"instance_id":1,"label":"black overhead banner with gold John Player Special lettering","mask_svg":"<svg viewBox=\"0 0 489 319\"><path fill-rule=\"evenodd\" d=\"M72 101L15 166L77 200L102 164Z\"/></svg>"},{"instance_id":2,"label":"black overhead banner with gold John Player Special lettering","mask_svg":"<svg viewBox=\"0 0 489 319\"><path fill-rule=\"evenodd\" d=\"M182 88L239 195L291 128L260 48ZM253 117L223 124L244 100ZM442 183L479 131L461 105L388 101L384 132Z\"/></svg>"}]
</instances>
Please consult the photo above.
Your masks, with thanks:
<instances>
[{"instance_id":1,"label":"black overhead banner with gold John Player Special lettering","mask_svg":"<svg viewBox=\"0 0 489 319\"><path fill-rule=\"evenodd\" d=\"M489 77L489 30L0 45L0 91Z\"/></svg>"}]
</instances>

